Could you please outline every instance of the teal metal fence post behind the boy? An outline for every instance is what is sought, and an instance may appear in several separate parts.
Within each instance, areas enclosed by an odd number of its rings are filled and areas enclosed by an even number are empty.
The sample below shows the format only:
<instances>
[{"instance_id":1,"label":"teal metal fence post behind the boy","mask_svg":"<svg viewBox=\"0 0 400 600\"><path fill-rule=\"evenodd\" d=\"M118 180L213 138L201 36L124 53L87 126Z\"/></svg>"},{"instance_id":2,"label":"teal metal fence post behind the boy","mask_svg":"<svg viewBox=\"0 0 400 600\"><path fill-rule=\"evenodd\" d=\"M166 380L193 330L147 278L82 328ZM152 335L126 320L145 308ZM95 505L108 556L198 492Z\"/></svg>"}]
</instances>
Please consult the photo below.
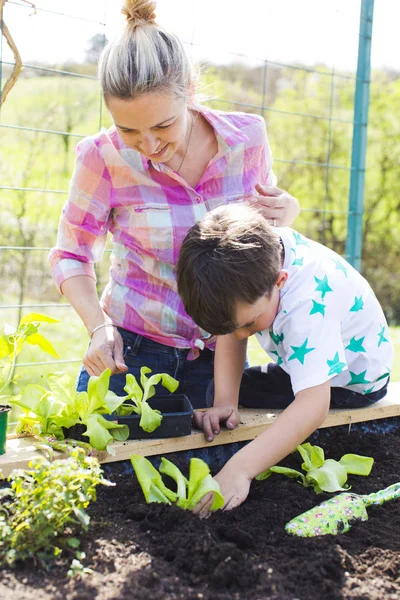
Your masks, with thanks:
<instances>
[{"instance_id":1,"label":"teal metal fence post behind the boy","mask_svg":"<svg viewBox=\"0 0 400 600\"><path fill-rule=\"evenodd\" d=\"M346 239L346 259L358 270L361 268L373 17L374 0L362 0Z\"/></svg>"}]
</instances>

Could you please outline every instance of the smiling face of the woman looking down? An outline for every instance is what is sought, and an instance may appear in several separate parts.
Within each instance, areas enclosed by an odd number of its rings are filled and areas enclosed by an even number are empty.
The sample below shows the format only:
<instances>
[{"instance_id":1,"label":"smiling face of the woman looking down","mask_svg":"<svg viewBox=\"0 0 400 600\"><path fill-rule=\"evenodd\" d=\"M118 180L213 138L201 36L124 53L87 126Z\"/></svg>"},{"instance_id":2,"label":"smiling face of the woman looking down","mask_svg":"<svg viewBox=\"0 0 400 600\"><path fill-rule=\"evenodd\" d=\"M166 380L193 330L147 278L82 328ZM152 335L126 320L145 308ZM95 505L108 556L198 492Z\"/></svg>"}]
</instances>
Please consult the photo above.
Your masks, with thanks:
<instances>
[{"instance_id":1,"label":"smiling face of the woman looking down","mask_svg":"<svg viewBox=\"0 0 400 600\"><path fill-rule=\"evenodd\" d=\"M153 162L168 162L178 148L185 150L191 122L183 98L168 93L111 97L107 106L124 144Z\"/></svg>"}]
</instances>

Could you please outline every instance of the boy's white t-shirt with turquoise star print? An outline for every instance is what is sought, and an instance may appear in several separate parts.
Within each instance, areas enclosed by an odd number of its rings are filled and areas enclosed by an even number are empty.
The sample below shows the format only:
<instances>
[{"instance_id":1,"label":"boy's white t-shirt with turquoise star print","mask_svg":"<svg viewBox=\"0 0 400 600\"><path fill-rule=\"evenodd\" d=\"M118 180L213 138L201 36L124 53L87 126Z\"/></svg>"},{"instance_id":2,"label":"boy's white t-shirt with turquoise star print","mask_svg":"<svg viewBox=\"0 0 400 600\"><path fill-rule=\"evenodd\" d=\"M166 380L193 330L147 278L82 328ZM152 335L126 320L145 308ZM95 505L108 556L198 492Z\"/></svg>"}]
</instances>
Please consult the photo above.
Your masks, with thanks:
<instances>
[{"instance_id":1,"label":"boy's white t-shirt with turquoise star print","mask_svg":"<svg viewBox=\"0 0 400 600\"><path fill-rule=\"evenodd\" d=\"M290 375L294 394L330 380L371 393L387 382L393 346L368 282L338 254L289 227L277 228L289 277L272 327L256 334Z\"/></svg>"}]
</instances>

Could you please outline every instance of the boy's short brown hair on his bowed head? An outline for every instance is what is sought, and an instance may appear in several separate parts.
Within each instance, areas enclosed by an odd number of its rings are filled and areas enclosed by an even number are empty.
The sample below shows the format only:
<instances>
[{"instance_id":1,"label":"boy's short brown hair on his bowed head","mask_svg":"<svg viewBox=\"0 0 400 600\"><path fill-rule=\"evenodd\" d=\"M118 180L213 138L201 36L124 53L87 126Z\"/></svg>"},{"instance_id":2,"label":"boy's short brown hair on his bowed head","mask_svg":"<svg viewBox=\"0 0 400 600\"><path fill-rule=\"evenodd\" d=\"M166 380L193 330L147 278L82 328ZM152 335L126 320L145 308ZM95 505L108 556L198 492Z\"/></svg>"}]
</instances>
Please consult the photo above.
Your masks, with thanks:
<instances>
[{"instance_id":1,"label":"boy's short brown hair on his bowed head","mask_svg":"<svg viewBox=\"0 0 400 600\"><path fill-rule=\"evenodd\" d=\"M178 291L188 315L212 335L238 328L236 302L270 296L282 268L279 236L247 204L207 213L186 235L177 264Z\"/></svg>"}]
</instances>

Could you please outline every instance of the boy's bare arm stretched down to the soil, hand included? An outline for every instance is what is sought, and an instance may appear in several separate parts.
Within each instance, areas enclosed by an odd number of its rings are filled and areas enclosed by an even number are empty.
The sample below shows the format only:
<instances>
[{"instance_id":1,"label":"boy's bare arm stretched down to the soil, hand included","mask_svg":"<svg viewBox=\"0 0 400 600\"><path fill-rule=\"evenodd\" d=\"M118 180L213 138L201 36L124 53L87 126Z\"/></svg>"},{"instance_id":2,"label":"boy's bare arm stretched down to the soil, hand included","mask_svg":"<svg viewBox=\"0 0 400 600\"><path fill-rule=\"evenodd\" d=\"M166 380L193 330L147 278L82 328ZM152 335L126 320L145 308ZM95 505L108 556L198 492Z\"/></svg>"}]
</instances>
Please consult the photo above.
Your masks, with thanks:
<instances>
[{"instance_id":1,"label":"boy's bare arm stretched down to the soil, hand included","mask_svg":"<svg viewBox=\"0 0 400 600\"><path fill-rule=\"evenodd\" d=\"M225 509L244 502L252 479L290 454L323 423L329 404L329 381L298 392L275 423L226 463L215 477L225 498ZM207 494L195 512L206 513L211 503L212 495Z\"/></svg>"}]
</instances>

